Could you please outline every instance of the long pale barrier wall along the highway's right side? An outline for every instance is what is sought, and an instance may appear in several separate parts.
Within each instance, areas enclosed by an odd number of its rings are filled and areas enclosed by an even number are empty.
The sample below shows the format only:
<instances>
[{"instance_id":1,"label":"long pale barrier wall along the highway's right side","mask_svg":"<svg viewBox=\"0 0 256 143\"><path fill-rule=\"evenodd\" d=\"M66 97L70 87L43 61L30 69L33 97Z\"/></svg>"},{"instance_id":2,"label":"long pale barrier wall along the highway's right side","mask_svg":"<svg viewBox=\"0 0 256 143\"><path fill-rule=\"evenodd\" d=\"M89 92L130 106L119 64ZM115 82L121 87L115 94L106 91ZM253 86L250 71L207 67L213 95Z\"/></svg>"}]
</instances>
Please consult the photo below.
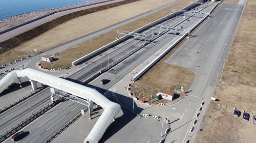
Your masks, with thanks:
<instances>
[{"instance_id":1,"label":"long pale barrier wall along the highway's right side","mask_svg":"<svg viewBox=\"0 0 256 143\"><path fill-rule=\"evenodd\" d=\"M209 13L211 13L216 7L217 5L220 3L217 3L214 8L212 8L210 10ZM190 30L188 30L189 32L193 31L200 23L202 23L202 21L204 21L205 18L207 18L209 15L205 15L202 19L200 19L193 27L190 28ZM174 48L181 40L183 40L189 32L186 32L185 34L183 34L182 37L180 37L179 39L177 39L174 44L170 45L166 50L164 50L159 56L157 56L157 58L155 60L153 60L150 64L148 64L145 68L143 68L140 72L138 72L134 77L133 77L133 81L136 81L139 77L141 77L148 69L150 69L153 65L155 65L160 59L163 58L163 56L172 48Z\"/></svg>"}]
</instances>

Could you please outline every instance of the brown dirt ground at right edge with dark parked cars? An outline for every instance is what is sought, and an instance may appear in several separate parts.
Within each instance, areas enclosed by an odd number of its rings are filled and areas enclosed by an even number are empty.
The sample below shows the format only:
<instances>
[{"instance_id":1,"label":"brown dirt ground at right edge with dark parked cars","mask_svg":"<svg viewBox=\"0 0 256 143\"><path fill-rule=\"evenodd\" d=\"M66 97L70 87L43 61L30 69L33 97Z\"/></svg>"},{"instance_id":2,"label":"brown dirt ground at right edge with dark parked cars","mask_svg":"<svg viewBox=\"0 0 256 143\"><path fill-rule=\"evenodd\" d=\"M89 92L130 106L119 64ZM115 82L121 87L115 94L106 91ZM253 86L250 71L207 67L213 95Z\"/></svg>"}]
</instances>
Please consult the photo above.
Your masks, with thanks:
<instances>
[{"instance_id":1,"label":"brown dirt ground at right edge with dark parked cars","mask_svg":"<svg viewBox=\"0 0 256 143\"><path fill-rule=\"evenodd\" d=\"M228 2L236 3L237 1ZM227 2L225 2L227 3ZM256 142L256 1L247 0L237 34L232 43L221 81L217 85L198 132L196 142ZM250 113L250 120L233 117L233 107Z\"/></svg>"}]
</instances>

